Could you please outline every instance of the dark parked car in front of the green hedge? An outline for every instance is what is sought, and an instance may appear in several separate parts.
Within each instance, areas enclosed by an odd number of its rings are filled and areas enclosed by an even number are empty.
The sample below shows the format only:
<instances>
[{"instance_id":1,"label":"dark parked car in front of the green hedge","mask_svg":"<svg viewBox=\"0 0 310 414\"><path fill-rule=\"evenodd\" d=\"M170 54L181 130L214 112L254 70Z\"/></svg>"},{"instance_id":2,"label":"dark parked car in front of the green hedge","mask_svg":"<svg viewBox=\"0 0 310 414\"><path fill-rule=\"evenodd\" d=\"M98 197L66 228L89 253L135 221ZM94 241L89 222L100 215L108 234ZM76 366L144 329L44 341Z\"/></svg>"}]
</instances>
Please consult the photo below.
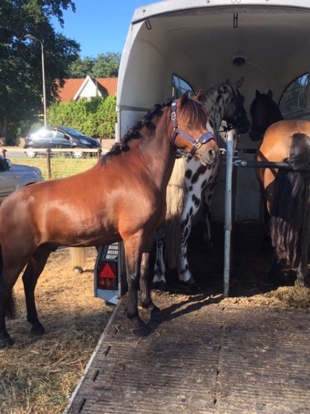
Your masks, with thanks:
<instances>
[{"instance_id":1,"label":"dark parked car in front of the green hedge","mask_svg":"<svg viewBox=\"0 0 310 414\"><path fill-rule=\"evenodd\" d=\"M25 153L33 158L43 151L37 148L100 148L97 139L87 137L83 132L68 128L67 126L48 126L39 128L25 138ZM69 152L72 157L81 158L85 154L83 150Z\"/></svg>"}]
</instances>

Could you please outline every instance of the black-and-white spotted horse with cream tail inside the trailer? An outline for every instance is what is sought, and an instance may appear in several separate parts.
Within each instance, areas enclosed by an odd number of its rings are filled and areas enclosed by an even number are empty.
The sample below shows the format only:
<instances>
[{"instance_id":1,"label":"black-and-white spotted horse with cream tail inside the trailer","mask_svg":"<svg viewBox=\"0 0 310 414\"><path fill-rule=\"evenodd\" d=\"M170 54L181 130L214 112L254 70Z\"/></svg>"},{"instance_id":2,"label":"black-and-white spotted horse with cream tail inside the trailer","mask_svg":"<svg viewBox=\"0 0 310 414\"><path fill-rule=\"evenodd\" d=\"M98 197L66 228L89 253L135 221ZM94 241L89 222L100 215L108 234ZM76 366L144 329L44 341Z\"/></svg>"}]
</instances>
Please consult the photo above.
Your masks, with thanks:
<instances>
[{"instance_id":1,"label":"black-and-white spotted horse with cream tail inside the trailer","mask_svg":"<svg viewBox=\"0 0 310 414\"><path fill-rule=\"evenodd\" d=\"M209 88L203 93L203 102L208 112L208 130L217 136L218 142L223 143L218 133L221 122L227 122L230 128L236 128L239 133L245 133L250 123L243 106L244 97L238 88L244 78L236 83L227 81ZM169 268L178 268L180 282L193 283L194 279L187 262L187 239L192 228L192 221L203 200L204 241L206 246L212 246L210 214L211 196L218 179L220 160L212 166L203 166L195 159L177 159L172 173L172 179L167 188L167 215L165 228L162 226L156 233L157 256L154 269L154 284L165 282L165 262ZM174 181L174 178L176 180ZM165 243L165 262L164 262Z\"/></svg>"}]
</instances>

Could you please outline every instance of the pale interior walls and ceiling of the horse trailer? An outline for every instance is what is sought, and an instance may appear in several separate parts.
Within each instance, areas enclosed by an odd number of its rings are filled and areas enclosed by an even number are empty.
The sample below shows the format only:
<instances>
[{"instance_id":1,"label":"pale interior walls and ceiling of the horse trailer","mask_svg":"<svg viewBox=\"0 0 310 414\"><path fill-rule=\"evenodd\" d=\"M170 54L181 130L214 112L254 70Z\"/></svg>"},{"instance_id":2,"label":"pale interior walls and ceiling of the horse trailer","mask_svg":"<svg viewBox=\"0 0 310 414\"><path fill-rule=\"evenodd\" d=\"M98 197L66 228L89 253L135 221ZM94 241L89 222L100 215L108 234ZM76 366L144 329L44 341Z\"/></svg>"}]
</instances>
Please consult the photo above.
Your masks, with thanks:
<instances>
[{"instance_id":1,"label":"pale interior walls and ceiling of the horse trailer","mask_svg":"<svg viewBox=\"0 0 310 414\"><path fill-rule=\"evenodd\" d=\"M245 76L240 90L248 111L256 89L267 92L270 88L278 101L293 79L309 72L310 12L306 3L260 0L232 5L223 0L169 0L137 9L118 78L119 135L147 108L171 97L173 73L196 90L228 77L236 81ZM245 58L244 66L234 65L238 56ZM307 116L309 110L307 103L307 110L294 116ZM239 148L256 146L248 135L239 139ZM214 219L223 219L224 169L214 197ZM236 219L258 219L260 192L254 170L239 168L237 182Z\"/></svg>"}]
</instances>

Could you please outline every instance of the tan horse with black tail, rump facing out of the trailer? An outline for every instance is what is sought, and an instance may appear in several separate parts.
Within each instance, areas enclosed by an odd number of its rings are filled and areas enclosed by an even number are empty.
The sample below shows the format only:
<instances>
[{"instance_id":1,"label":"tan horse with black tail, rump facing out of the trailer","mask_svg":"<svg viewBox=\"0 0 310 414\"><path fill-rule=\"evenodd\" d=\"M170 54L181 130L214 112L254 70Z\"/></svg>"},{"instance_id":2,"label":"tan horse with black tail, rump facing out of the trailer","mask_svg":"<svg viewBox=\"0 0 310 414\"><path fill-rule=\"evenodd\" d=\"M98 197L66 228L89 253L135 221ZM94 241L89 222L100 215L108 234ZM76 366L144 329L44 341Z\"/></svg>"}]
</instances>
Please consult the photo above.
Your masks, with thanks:
<instances>
[{"instance_id":1,"label":"tan horse with black tail, rump facing out of the trailer","mask_svg":"<svg viewBox=\"0 0 310 414\"><path fill-rule=\"evenodd\" d=\"M280 282L282 266L296 270L296 286L309 286L310 121L285 120L267 94L256 90L249 135L262 138L256 161L285 161L287 168L256 168L269 213L273 263L269 279Z\"/></svg>"}]
</instances>

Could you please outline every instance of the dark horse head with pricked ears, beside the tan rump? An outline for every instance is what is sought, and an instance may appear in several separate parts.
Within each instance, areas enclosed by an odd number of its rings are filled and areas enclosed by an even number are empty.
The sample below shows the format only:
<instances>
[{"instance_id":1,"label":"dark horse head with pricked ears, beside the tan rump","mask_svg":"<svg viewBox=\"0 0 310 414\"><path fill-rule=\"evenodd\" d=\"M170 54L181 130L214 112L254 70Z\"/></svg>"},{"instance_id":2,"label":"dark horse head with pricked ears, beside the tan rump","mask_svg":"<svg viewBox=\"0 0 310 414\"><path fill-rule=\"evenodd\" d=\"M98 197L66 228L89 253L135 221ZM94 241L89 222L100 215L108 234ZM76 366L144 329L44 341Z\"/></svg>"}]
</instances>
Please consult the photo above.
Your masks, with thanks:
<instances>
[{"instance_id":1,"label":"dark horse head with pricked ears, beside the tan rump","mask_svg":"<svg viewBox=\"0 0 310 414\"><path fill-rule=\"evenodd\" d=\"M251 103L250 115L252 119L249 136L252 141L260 141L271 124L283 119L280 109L272 99L272 91L260 93L256 89L254 101Z\"/></svg>"}]
</instances>

